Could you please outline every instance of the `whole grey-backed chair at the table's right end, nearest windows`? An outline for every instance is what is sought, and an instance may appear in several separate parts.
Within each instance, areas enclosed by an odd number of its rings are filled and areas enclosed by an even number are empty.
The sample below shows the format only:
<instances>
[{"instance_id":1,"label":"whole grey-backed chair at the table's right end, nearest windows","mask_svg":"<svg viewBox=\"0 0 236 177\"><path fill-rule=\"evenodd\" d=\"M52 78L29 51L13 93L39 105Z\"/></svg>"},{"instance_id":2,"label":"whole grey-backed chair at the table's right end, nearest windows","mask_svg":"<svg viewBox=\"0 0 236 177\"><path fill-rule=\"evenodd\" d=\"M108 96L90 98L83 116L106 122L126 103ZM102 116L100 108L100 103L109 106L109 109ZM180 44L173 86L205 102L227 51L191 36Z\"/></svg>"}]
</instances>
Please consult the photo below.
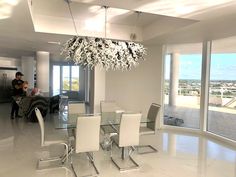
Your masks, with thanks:
<instances>
[{"instance_id":1,"label":"whole grey-backed chair at the table's right end, nearest windows","mask_svg":"<svg viewBox=\"0 0 236 177\"><path fill-rule=\"evenodd\" d=\"M157 115L158 112L160 110L161 105L156 104L156 103L152 103L149 110L148 110L148 115L147 115L147 119L150 121L147 123L147 126L145 127L140 127L140 135L151 135L151 134L155 134L156 130L157 130ZM142 148L149 148L151 149L151 151L146 151L146 152L140 152L139 154L146 154L146 153L152 153L152 152L157 152L157 149L154 148L151 145L139 145L138 146L138 150L142 149Z\"/></svg>"}]
</instances>

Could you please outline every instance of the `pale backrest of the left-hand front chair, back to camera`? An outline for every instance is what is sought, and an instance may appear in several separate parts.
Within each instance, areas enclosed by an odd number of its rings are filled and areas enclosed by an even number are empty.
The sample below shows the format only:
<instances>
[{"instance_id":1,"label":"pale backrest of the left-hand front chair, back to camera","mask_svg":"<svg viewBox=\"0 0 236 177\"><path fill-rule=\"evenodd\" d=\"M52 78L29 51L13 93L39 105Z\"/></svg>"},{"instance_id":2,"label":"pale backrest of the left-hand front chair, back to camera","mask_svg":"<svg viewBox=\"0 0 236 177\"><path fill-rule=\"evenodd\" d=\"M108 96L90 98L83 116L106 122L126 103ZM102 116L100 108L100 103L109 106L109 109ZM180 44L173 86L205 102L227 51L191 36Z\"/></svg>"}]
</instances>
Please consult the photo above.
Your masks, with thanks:
<instances>
[{"instance_id":1,"label":"pale backrest of the left-hand front chair, back to camera","mask_svg":"<svg viewBox=\"0 0 236 177\"><path fill-rule=\"evenodd\" d=\"M77 118L75 152L92 152L99 150L99 132L101 116L84 116Z\"/></svg>"}]
</instances>

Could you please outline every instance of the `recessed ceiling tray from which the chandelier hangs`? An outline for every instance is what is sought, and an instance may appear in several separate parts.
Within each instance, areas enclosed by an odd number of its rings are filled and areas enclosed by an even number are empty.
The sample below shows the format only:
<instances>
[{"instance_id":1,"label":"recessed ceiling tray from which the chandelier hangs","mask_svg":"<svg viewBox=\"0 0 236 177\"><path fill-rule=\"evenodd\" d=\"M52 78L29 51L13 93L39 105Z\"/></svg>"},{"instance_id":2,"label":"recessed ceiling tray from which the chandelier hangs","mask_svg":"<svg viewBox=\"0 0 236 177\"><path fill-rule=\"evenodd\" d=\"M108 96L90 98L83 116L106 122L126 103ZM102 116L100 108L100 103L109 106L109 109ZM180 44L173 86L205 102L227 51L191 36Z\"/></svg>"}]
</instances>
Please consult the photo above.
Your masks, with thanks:
<instances>
[{"instance_id":1,"label":"recessed ceiling tray from which the chandelier hangs","mask_svg":"<svg viewBox=\"0 0 236 177\"><path fill-rule=\"evenodd\" d=\"M105 15L105 8L87 3L71 2L70 7L80 36L105 37L105 24L107 24L108 38L130 40L130 34L136 33L137 41L145 41L198 22L145 12L135 13L135 11L112 7L107 9ZM34 0L31 9L36 32L76 34L65 1Z\"/></svg>"}]
</instances>

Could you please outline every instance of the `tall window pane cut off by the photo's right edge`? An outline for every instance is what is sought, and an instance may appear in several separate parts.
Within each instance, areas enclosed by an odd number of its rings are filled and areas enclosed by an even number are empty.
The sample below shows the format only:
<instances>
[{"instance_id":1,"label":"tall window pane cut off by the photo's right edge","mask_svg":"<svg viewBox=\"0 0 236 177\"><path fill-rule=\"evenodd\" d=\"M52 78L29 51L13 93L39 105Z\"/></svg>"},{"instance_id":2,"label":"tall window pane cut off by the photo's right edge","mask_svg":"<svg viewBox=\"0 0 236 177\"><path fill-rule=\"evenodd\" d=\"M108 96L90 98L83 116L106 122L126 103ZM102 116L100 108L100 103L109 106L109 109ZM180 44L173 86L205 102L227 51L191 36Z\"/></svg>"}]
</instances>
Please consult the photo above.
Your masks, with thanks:
<instances>
[{"instance_id":1,"label":"tall window pane cut off by the photo's right edge","mask_svg":"<svg viewBox=\"0 0 236 177\"><path fill-rule=\"evenodd\" d=\"M229 51L227 43L213 41L207 129L236 140L236 47Z\"/></svg>"}]
</instances>

